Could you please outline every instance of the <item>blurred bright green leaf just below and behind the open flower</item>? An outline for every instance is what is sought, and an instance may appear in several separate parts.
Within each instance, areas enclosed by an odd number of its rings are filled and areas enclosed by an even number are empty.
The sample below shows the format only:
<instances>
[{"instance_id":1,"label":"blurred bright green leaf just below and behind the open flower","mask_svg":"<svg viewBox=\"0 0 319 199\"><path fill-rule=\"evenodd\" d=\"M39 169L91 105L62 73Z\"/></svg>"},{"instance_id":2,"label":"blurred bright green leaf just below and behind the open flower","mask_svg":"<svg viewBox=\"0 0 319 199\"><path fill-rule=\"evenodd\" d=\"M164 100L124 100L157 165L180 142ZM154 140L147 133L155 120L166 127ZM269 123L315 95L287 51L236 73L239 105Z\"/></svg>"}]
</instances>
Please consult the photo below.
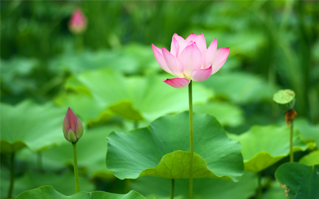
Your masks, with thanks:
<instances>
[{"instance_id":1,"label":"blurred bright green leaf just below and behind the open flower","mask_svg":"<svg viewBox=\"0 0 319 199\"><path fill-rule=\"evenodd\" d=\"M169 77L169 74L125 77L119 71L105 68L76 75L67 82L66 88L88 93L96 103L112 107L122 117L152 121L167 113L188 110L188 88L175 89L162 81ZM193 96L194 104L204 103L212 92L194 82ZM118 104L124 101L122 106ZM123 114L128 103L131 109Z\"/></svg>"}]
</instances>

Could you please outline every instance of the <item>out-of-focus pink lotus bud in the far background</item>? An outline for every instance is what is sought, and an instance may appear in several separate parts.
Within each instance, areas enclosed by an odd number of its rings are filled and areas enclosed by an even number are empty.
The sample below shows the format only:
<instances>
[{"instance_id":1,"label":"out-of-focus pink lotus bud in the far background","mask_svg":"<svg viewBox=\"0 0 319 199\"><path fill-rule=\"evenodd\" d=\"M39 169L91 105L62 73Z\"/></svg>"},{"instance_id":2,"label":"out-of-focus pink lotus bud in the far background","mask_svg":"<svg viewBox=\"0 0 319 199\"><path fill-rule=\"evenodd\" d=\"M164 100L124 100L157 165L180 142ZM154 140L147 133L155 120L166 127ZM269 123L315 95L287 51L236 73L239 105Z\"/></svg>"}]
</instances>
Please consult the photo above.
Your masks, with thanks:
<instances>
[{"instance_id":1,"label":"out-of-focus pink lotus bud in the far background","mask_svg":"<svg viewBox=\"0 0 319 199\"><path fill-rule=\"evenodd\" d=\"M69 21L69 29L74 34L79 34L85 31L87 20L81 9L76 9Z\"/></svg>"}]
</instances>

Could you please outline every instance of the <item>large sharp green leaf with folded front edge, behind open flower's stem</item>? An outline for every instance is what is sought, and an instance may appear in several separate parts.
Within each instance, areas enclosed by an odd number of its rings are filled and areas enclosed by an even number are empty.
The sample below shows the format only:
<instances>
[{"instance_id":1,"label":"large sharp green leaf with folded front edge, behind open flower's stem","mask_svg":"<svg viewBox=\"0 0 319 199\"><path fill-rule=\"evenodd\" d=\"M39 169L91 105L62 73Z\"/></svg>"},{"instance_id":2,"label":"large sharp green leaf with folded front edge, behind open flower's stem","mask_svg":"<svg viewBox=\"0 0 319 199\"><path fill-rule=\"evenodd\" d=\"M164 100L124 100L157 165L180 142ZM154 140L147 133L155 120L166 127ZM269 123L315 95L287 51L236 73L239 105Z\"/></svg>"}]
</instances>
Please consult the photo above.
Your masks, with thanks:
<instances>
[{"instance_id":1,"label":"large sharp green leaf with folded front edge, behind open flower's stem","mask_svg":"<svg viewBox=\"0 0 319 199\"><path fill-rule=\"evenodd\" d=\"M160 117L130 132L113 131L107 140L106 164L120 179L189 177L188 112ZM213 116L194 114L194 177L238 181L243 171L240 148Z\"/></svg>"}]
</instances>

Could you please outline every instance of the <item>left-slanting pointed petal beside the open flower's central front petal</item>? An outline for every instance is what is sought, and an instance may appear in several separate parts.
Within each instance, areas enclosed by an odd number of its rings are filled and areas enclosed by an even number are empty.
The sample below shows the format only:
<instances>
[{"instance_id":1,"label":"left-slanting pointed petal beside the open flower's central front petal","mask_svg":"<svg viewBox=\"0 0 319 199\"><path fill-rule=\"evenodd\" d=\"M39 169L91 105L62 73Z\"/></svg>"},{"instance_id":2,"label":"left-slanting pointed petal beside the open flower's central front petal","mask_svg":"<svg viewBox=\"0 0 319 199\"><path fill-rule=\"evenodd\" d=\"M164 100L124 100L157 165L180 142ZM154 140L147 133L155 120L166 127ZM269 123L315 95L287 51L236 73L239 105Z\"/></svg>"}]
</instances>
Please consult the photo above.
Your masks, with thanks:
<instances>
[{"instance_id":1,"label":"left-slanting pointed petal beside the open flower's central front petal","mask_svg":"<svg viewBox=\"0 0 319 199\"><path fill-rule=\"evenodd\" d=\"M170 71L172 71L173 75L176 77L184 77L184 68L182 66L181 61L164 47L162 48L162 53L167 67Z\"/></svg>"}]
</instances>

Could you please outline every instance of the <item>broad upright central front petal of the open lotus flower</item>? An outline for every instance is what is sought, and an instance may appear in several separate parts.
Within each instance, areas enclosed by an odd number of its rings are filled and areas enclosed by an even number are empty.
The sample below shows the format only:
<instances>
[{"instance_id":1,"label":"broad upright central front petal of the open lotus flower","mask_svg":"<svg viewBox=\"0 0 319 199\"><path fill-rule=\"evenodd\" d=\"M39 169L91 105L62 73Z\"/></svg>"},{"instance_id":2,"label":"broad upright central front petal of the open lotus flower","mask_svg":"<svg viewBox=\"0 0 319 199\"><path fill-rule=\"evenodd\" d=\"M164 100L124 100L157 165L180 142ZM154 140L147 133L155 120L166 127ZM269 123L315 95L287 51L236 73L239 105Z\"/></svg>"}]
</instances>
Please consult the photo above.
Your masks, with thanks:
<instances>
[{"instance_id":1,"label":"broad upright central front petal of the open lotus flower","mask_svg":"<svg viewBox=\"0 0 319 199\"><path fill-rule=\"evenodd\" d=\"M196 43L187 46L181 54L181 62L184 67L184 74L186 77L191 77L191 72L194 69L202 67L203 56Z\"/></svg>"}]
</instances>

